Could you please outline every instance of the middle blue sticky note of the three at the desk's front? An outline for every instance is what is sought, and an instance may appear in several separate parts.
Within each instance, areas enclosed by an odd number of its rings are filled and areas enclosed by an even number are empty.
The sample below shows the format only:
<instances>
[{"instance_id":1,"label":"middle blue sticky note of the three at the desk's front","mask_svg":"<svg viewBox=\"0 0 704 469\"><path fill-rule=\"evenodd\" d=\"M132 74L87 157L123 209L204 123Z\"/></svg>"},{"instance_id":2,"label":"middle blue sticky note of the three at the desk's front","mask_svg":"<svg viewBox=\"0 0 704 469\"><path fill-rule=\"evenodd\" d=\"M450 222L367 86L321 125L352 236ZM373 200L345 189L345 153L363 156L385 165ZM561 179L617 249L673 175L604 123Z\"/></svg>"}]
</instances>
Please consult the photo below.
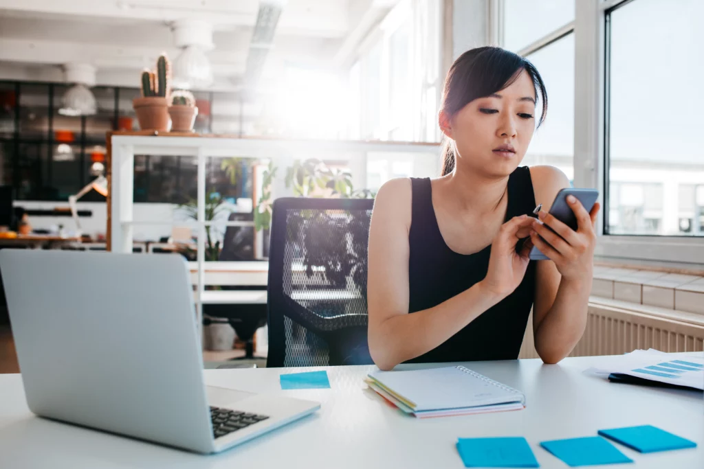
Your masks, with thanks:
<instances>
[{"instance_id":1,"label":"middle blue sticky note of the three at the desk's front","mask_svg":"<svg viewBox=\"0 0 704 469\"><path fill-rule=\"evenodd\" d=\"M602 437L555 439L551 442L542 442L540 446L572 468L580 465L633 462Z\"/></svg>"}]
</instances>

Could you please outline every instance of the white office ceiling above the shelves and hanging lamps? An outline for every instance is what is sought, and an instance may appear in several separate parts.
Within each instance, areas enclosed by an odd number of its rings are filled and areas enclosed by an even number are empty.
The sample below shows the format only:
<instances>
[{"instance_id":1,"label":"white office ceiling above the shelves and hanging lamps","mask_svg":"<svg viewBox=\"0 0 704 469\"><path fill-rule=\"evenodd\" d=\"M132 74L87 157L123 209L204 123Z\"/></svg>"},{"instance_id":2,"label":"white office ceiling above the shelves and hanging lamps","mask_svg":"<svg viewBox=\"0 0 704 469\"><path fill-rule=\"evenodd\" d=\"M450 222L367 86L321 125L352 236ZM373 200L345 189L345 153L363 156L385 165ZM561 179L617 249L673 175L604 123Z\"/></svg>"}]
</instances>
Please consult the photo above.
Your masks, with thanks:
<instances>
[{"instance_id":1,"label":"white office ceiling above the shelves and hanging lamps","mask_svg":"<svg viewBox=\"0 0 704 469\"><path fill-rule=\"evenodd\" d=\"M89 63L97 84L138 86L139 70L163 51L178 54L172 23L185 18L213 27L207 55L215 83L236 91L260 3L281 4L264 86L286 65L335 70L398 0L0 0L0 79L63 81L65 63Z\"/></svg>"}]
</instances>

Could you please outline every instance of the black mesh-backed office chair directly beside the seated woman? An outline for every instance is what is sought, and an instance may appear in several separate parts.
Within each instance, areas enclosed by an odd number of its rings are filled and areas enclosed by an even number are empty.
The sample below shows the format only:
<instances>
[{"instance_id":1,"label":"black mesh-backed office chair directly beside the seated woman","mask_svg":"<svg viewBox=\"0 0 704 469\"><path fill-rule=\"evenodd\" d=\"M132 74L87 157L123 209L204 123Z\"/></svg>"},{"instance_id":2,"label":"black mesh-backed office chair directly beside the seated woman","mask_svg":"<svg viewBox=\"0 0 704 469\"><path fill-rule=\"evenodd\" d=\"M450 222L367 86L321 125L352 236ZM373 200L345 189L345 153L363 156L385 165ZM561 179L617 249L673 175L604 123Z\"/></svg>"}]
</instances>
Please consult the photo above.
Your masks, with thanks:
<instances>
[{"instance_id":1,"label":"black mesh-backed office chair directly beside the seated woman","mask_svg":"<svg viewBox=\"0 0 704 469\"><path fill-rule=\"evenodd\" d=\"M372 363L367 242L373 205L367 199L275 200L267 366Z\"/></svg>"}]
</instances>

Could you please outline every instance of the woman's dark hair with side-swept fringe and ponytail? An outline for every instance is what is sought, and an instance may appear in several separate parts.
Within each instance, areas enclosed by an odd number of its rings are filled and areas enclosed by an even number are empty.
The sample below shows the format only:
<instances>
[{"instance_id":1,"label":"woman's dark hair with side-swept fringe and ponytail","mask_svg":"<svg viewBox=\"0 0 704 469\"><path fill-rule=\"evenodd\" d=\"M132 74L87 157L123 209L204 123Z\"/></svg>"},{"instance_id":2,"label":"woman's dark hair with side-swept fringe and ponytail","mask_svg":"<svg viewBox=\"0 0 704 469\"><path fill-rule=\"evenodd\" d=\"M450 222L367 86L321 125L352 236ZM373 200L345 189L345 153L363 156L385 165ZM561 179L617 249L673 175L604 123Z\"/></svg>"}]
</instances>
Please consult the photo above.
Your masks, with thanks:
<instances>
[{"instance_id":1,"label":"woman's dark hair with side-swept fringe and ponytail","mask_svg":"<svg viewBox=\"0 0 704 469\"><path fill-rule=\"evenodd\" d=\"M498 93L509 86L522 70L528 72L533 81L536 102L540 93L543 103L543 113L538 122L540 127L548 113L548 94L543 79L529 60L500 47L470 49L455 60L445 79L440 110L453 116L470 101ZM455 150L450 139L445 139L442 153L442 175L445 176L455 169Z\"/></svg>"}]
</instances>

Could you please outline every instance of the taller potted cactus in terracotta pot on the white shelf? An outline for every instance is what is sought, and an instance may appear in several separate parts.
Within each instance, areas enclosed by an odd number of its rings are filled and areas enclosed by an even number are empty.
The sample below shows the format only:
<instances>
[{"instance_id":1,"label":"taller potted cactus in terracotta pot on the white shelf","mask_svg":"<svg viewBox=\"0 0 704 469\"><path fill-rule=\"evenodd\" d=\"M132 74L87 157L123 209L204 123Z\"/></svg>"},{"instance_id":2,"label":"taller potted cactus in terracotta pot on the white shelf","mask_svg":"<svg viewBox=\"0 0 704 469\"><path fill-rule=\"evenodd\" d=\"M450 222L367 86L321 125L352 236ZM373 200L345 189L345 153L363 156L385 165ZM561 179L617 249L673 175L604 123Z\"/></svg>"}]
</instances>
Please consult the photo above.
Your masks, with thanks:
<instances>
[{"instance_id":1,"label":"taller potted cactus in terracotta pot on the white shelf","mask_svg":"<svg viewBox=\"0 0 704 469\"><path fill-rule=\"evenodd\" d=\"M168 131L171 120L168 113L171 94L171 64L165 54L156 61L156 72L142 72L142 96L132 100L142 130Z\"/></svg>"}]
</instances>

